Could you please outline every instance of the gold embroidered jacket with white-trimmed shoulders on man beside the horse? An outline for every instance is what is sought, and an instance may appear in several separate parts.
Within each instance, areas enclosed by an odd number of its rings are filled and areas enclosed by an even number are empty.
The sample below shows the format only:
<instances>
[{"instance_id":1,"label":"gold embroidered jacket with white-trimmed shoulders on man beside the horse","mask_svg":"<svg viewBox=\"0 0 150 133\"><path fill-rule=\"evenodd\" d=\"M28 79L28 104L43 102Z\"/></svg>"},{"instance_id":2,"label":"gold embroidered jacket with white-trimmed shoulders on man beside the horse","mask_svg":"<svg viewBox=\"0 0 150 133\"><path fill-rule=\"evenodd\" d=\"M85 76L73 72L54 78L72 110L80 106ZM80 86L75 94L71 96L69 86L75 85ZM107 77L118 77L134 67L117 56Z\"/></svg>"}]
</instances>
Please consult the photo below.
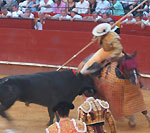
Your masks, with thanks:
<instances>
[{"instance_id":1,"label":"gold embroidered jacket with white-trimmed shoulders on man beside the horse","mask_svg":"<svg viewBox=\"0 0 150 133\"><path fill-rule=\"evenodd\" d=\"M86 123L88 133L103 133L103 125L106 119L111 133L116 133L114 120L106 101L94 99L93 97L87 98L78 108L78 119Z\"/></svg>"}]
</instances>

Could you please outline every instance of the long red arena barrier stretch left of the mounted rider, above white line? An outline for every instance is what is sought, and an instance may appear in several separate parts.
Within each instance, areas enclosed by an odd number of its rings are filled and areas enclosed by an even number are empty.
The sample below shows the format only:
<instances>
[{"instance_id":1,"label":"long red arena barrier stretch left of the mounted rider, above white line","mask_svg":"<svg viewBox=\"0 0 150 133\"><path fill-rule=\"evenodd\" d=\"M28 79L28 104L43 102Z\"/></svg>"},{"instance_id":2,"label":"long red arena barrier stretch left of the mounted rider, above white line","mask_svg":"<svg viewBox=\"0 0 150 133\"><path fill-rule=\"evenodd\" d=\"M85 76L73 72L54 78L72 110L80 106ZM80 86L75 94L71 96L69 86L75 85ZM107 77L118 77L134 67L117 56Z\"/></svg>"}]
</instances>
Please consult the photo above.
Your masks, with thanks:
<instances>
[{"instance_id":1,"label":"long red arena barrier stretch left of the mounted rider, above white line","mask_svg":"<svg viewBox=\"0 0 150 133\"><path fill-rule=\"evenodd\" d=\"M0 29L0 60L61 65L92 38L87 32L35 31ZM93 44L94 52L98 46ZM85 51L90 54L91 51ZM85 54L85 53L84 53ZM69 65L77 64L85 57L81 54Z\"/></svg>"}]
</instances>

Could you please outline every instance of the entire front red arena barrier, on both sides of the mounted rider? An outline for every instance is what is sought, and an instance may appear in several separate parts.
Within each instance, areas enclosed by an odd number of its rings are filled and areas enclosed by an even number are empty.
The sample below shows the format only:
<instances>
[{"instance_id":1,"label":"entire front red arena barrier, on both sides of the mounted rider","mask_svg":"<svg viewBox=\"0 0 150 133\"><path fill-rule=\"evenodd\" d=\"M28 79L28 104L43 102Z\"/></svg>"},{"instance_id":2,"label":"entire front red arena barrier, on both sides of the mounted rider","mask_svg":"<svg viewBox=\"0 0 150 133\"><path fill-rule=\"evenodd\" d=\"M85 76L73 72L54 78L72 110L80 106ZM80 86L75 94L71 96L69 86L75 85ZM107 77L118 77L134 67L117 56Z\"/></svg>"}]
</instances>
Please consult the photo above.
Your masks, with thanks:
<instances>
[{"instance_id":1,"label":"entire front red arena barrier, on both sides of the mounted rider","mask_svg":"<svg viewBox=\"0 0 150 133\"><path fill-rule=\"evenodd\" d=\"M0 60L16 62L32 62L41 64L62 65L92 38L90 32L67 31L35 31L26 29L0 29ZM150 73L149 42L150 37L121 35L121 42L128 53L137 50L139 69ZM95 52L98 44L93 44L69 66L77 66L86 56Z\"/></svg>"}]
</instances>

